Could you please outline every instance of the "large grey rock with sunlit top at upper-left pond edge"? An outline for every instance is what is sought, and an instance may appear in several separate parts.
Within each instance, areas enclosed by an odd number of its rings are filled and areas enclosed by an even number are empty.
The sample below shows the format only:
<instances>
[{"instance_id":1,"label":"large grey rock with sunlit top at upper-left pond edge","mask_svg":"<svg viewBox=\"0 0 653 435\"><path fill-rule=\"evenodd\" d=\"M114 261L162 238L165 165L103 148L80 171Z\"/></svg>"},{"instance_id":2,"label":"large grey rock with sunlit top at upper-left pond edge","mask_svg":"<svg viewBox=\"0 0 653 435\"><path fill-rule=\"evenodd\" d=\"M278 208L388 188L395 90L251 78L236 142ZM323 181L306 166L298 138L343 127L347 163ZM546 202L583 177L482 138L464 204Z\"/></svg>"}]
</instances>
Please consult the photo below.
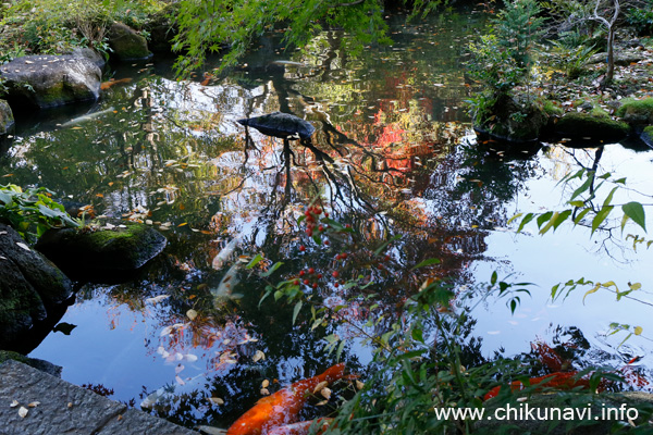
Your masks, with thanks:
<instances>
[{"instance_id":1,"label":"large grey rock with sunlit top at upper-left pond edge","mask_svg":"<svg viewBox=\"0 0 653 435\"><path fill-rule=\"evenodd\" d=\"M42 109L97 100L101 76L95 63L74 54L25 55L0 66L12 107Z\"/></svg>"}]
</instances>

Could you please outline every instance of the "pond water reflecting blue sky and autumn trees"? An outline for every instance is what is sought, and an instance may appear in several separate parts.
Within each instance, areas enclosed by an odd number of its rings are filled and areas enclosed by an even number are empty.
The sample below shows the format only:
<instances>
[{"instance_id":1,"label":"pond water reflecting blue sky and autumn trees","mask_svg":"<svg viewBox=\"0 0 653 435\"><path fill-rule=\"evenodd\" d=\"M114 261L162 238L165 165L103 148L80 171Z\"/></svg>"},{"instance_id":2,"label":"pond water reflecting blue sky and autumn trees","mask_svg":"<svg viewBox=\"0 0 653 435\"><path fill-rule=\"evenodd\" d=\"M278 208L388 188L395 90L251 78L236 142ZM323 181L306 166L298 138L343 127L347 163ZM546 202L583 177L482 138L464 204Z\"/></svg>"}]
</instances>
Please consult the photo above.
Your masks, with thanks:
<instances>
[{"instance_id":1,"label":"pond water reflecting blue sky and autumn trees","mask_svg":"<svg viewBox=\"0 0 653 435\"><path fill-rule=\"evenodd\" d=\"M138 278L84 285L62 319L76 327L51 333L30 357L62 365L72 383L101 384L113 399L189 427L226 427L260 398L263 380L276 389L336 361L323 350L334 331L311 332L308 310L293 325L292 304L269 298L259 306L266 283L243 265L262 252L269 264L284 262L271 282L305 268L323 273L312 291L334 304L352 296L326 278L334 270L344 278L369 276L367 291L381 295L377 303L389 319L427 276L446 277L459 291L481 288L494 271L533 283L514 314L504 299L477 294L469 301L477 361L500 350L528 353L538 340L570 343L576 368L619 368L642 357L634 365L653 380L651 250L633 251L618 222L593 235L565 223L544 236L534 223L520 234L508 224L519 212L562 210L572 190L558 182L591 167L596 149L483 151L490 145L477 144L464 105L473 92L464 77L465 45L482 14L452 11L408 26L401 15L389 18L392 47L354 55L334 32L303 54L284 51L282 35L272 35L208 83L201 74L175 80L170 59L155 58L116 66L114 77L130 80L76 113L19 120L0 158L3 182L46 186L63 200L93 204L98 215L147 222L169 239ZM310 121L321 153L298 142L284 149L281 139L236 122L276 110ZM90 112L99 114L76 120ZM653 150L607 145L599 160L599 172L628 177L615 203L651 202ZM346 244L318 246L297 223L313 202L361 234L347 260L334 260ZM637 232L628 224L624 234ZM393 236L380 269L368 253ZM217 261L229 247L233 256ZM441 263L407 272L429 258ZM221 286L225 275L230 289ZM631 295L639 300L617 302L601 290L583 301L592 286L551 300L553 285L580 277L642 289ZM365 303L348 304L350 321L365 323ZM612 322L643 332L619 346L627 334L611 335ZM370 349L353 331L335 332L348 339L342 359L365 374Z\"/></svg>"}]
</instances>

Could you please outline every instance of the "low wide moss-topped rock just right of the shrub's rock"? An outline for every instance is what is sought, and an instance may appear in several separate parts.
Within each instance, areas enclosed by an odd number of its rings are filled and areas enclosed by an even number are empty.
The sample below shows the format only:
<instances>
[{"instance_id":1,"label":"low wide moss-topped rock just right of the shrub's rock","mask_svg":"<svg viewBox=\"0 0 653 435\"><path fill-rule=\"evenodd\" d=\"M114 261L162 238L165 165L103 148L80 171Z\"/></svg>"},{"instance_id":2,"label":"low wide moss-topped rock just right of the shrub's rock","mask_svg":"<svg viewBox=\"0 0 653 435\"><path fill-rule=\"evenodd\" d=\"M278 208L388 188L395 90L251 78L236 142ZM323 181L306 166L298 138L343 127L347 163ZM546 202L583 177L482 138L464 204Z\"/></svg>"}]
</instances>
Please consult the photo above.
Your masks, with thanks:
<instances>
[{"instance_id":1,"label":"low wide moss-topped rock just right of the shrub's rock","mask_svg":"<svg viewBox=\"0 0 653 435\"><path fill-rule=\"evenodd\" d=\"M557 135L596 144L618 142L628 136L628 124L588 113L566 113L555 125Z\"/></svg>"}]
</instances>

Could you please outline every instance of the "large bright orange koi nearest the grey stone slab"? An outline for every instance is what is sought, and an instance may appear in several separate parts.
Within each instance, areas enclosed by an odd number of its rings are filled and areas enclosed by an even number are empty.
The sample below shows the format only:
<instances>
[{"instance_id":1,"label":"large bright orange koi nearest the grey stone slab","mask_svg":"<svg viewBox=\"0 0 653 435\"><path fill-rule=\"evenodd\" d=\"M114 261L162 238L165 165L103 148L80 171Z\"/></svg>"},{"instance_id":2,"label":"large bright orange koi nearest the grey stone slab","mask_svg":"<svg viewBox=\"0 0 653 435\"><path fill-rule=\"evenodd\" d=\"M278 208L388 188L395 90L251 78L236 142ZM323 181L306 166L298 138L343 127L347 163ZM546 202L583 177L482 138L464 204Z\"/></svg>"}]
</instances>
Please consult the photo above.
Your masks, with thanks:
<instances>
[{"instance_id":1,"label":"large bright orange koi nearest the grey stone slab","mask_svg":"<svg viewBox=\"0 0 653 435\"><path fill-rule=\"evenodd\" d=\"M321 382L340 380L344 372L345 364L341 362L320 375L298 381L263 397L231 425L226 435L268 435L276 426L293 423L316 386Z\"/></svg>"}]
</instances>

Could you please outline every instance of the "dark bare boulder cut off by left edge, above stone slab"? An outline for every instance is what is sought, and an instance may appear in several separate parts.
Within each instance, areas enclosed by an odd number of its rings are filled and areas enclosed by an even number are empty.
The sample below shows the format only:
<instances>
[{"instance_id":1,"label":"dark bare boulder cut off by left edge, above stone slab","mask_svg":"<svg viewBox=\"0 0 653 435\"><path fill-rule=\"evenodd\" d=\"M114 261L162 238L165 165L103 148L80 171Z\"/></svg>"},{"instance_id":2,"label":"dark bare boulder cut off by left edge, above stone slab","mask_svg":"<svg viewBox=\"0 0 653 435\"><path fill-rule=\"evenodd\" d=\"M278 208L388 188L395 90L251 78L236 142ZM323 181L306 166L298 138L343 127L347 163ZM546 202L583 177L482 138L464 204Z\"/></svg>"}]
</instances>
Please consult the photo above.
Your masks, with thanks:
<instances>
[{"instance_id":1,"label":"dark bare boulder cut off by left edge, above stone slab","mask_svg":"<svg viewBox=\"0 0 653 435\"><path fill-rule=\"evenodd\" d=\"M58 315L72 295L59 269L0 224L0 349L23 351L30 330Z\"/></svg>"}]
</instances>

